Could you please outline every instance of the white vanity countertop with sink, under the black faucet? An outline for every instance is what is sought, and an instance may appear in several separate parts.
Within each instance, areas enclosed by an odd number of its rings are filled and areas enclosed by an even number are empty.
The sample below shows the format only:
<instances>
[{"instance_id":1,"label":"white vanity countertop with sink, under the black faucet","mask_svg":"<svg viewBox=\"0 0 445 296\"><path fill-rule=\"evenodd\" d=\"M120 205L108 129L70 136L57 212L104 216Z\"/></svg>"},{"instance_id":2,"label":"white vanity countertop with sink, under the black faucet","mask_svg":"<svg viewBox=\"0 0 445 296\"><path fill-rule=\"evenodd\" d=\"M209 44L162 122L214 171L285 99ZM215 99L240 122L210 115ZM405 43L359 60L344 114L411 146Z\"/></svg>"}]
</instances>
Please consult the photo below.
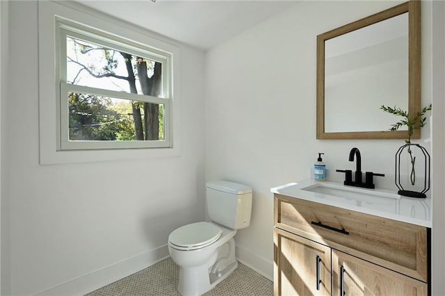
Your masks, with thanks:
<instances>
[{"instance_id":1,"label":"white vanity countertop with sink, under the black faucet","mask_svg":"<svg viewBox=\"0 0 445 296\"><path fill-rule=\"evenodd\" d=\"M334 195L327 195L320 192L312 192L309 190L302 190L309 186L316 186L318 183L325 183L327 186L342 186L349 190L351 186L344 186L343 183L333 181L315 181L314 179L307 179L296 183L289 183L282 186L270 188L270 192L295 197L298 199L305 199L311 202L318 202L320 204L327 204L329 206L337 206L338 208L346 208L351 211L375 215L378 217L385 217L392 220L407 222L411 224L420 225L423 227L432 227L432 208L431 198L417 199L412 197L403 197L397 195L397 190L387 189L366 189L360 188L360 191L370 192L371 194L381 193L382 195L396 195L399 198L381 197L378 195L369 197L355 197L353 193L347 197L338 197ZM357 190L356 188L354 190Z\"/></svg>"}]
</instances>

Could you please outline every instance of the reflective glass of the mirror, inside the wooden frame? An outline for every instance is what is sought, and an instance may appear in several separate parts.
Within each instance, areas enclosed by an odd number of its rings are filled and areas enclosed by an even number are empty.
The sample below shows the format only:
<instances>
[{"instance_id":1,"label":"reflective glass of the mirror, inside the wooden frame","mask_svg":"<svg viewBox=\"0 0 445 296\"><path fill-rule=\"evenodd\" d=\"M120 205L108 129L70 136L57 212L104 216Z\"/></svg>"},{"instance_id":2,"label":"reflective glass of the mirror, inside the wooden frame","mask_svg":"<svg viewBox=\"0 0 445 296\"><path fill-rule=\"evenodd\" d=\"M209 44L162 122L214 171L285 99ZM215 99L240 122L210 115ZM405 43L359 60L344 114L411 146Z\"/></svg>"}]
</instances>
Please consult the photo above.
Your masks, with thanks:
<instances>
[{"instance_id":1,"label":"reflective glass of the mirror, inside the wooden frame","mask_svg":"<svg viewBox=\"0 0 445 296\"><path fill-rule=\"evenodd\" d=\"M407 110L407 97L407 13L325 41L325 132L384 131L380 106Z\"/></svg>"}]
</instances>

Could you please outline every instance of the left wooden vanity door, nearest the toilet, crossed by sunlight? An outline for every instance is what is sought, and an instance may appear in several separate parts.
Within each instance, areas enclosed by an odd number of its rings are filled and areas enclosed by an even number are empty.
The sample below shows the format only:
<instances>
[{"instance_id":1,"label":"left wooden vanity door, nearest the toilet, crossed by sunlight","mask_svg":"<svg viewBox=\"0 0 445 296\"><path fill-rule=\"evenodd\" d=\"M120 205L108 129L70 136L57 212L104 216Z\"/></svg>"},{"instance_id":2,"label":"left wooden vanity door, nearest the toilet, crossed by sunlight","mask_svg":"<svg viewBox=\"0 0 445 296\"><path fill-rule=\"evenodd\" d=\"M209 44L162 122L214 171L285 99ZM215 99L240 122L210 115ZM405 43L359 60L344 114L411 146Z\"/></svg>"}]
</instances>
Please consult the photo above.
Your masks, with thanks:
<instances>
[{"instance_id":1,"label":"left wooden vanity door, nearest the toilet, crossed by sunlight","mask_svg":"<svg viewBox=\"0 0 445 296\"><path fill-rule=\"evenodd\" d=\"M275 296L330 295L330 247L275 229L274 261Z\"/></svg>"}]
</instances>

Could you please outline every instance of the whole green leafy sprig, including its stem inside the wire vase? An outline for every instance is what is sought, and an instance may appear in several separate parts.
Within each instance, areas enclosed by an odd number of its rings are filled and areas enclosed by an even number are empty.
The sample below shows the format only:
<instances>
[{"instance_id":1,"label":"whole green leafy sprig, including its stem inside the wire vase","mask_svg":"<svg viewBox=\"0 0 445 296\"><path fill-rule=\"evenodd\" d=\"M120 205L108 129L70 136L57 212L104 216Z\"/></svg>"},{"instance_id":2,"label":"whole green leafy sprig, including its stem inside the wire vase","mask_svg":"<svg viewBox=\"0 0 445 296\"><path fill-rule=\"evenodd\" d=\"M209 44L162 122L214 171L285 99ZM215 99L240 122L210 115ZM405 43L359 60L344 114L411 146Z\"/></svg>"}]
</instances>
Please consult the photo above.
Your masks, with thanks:
<instances>
[{"instance_id":1,"label":"whole green leafy sprig, including its stem inside the wire vase","mask_svg":"<svg viewBox=\"0 0 445 296\"><path fill-rule=\"evenodd\" d=\"M411 144L411 136L414 133L414 129L421 129L423 126L426 125L426 117L425 114L432 109L432 105L427 107L423 107L423 109L416 114L414 117L410 117L410 115L407 113L407 111L402 110L401 108L394 108L387 107L387 106L380 106L380 109L384 112L387 112L389 114L398 115L403 117L402 120L399 122L396 122L395 124L391 125L391 131L397 131L402 126L407 126L408 128L408 139L405 140L405 144L410 145ZM412 153L412 149L408 147L408 154L410 154L410 162L411 162L411 173L410 173L410 181L411 184L414 186L416 183L416 170L415 170L415 163L416 163L416 156Z\"/></svg>"}]
</instances>

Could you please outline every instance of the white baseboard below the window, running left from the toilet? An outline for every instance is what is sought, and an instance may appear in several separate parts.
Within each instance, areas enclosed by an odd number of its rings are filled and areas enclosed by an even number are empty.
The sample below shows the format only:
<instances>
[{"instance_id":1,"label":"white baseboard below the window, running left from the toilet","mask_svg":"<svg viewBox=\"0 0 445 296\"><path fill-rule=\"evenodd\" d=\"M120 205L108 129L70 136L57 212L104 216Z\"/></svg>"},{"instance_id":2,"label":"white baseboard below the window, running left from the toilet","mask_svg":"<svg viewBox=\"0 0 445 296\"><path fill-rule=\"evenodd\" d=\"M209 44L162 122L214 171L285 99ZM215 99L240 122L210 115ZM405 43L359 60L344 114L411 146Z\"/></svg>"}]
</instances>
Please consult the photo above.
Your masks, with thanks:
<instances>
[{"instance_id":1,"label":"white baseboard below the window, running left from the toilet","mask_svg":"<svg viewBox=\"0 0 445 296\"><path fill-rule=\"evenodd\" d=\"M113 283L118 279L122 279L129 276L130 274L154 265L159 261L163 261L169 256L170 255L168 254L168 245L163 245L156 249L143 252L136 256L109 265L106 268L101 268L100 270L85 274L76 279L72 279L65 283L60 283L60 285L54 286L35 295L85 295L94 290L97 290L98 288L102 288L109 283Z\"/></svg>"}]
</instances>

